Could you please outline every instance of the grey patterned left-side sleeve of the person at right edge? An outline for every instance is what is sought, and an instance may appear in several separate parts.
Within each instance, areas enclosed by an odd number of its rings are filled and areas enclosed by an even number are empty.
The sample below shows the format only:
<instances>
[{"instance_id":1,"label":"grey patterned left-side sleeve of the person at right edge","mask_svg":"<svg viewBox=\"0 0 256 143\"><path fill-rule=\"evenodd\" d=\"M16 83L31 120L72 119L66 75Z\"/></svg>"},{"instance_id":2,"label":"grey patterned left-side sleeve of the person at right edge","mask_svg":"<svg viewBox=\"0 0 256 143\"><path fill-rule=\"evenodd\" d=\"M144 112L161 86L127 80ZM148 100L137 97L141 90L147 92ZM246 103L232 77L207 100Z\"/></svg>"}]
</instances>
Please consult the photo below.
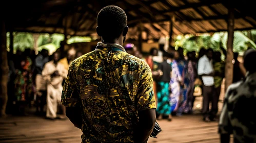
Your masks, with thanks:
<instances>
[{"instance_id":1,"label":"grey patterned left-side sleeve of the person at right edge","mask_svg":"<svg viewBox=\"0 0 256 143\"><path fill-rule=\"evenodd\" d=\"M220 134L232 134L232 126L230 124L230 120L228 117L228 93L230 93L230 88L227 89L224 105L222 108L221 116L220 116L220 123L219 123L219 133Z\"/></svg>"}]
</instances>

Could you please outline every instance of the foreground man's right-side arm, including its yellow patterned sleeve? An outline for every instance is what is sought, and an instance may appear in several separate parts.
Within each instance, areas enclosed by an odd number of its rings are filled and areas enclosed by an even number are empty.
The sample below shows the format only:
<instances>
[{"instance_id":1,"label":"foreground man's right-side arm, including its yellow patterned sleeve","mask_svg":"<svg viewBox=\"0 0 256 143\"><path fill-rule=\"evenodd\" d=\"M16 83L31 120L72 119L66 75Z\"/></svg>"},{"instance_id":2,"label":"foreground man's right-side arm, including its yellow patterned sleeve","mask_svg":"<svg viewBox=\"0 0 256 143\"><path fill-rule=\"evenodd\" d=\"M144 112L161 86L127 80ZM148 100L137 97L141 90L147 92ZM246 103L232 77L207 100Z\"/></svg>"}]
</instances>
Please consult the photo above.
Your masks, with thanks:
<instances>
[{"instance_id":1,"label":"foreground man's right-side arm, including its yellow patterned sleeve","mask_svg":"<svg viewBox=\"0 0 256 143\"><path fill-rule=\"evenodd\" d=\"M155 125L155 98L153 79L148 65L142 67L142 77L137 92L139 123L134 129L134 141L146 142Z\"/></svg>"}]
</instances>

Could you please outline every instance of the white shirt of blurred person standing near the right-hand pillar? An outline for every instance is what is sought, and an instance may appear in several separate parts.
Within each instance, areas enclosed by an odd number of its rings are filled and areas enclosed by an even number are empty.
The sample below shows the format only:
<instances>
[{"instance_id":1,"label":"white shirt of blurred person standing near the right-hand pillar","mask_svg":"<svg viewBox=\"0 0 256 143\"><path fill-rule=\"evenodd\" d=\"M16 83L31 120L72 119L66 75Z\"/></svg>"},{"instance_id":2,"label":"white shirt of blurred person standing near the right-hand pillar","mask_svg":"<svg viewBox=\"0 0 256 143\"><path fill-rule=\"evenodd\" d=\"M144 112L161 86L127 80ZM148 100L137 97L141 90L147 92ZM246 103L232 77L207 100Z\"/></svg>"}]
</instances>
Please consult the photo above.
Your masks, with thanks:
<instances>
[{"instance_id":1,"label":"white shirt of blurred person standing near the right-hand pillar","mask_svg":"<svg viewBox=\"0 0 256 143\"><path fill-rule=\"evenodd\" d=\"M201 57L198 61L198 75L208 75L213 73L212 60L209 60L206 55ZM205 86L213 86L214 78L213 76L202 76L202 80Z\"/></svg>"}]
</instances>

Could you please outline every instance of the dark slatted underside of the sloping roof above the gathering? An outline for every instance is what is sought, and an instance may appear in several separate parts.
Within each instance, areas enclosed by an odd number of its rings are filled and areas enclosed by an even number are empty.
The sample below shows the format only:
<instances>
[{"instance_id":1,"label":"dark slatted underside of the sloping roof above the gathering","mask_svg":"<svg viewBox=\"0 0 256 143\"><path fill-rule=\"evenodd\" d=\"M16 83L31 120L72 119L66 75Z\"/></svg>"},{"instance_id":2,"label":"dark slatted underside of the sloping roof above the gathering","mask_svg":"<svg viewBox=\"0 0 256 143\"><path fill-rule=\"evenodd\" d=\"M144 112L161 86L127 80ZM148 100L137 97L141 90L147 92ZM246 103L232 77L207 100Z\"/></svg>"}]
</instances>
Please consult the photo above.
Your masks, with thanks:
<instances>
[{"instance_id":1,"label":"dark slatted underside of the sloping roof above the gathering","mask_svg":"<svg viewBox=\"0 0 256 143\"><path fill-rule=\"evenodd\" d=\"M235 7L235 30L256 28L252 0L231 1ZM94 36L96 15L107 5L123 8L128 16L129 38L143 39L169 35L174 17L173 34L195 34L227 30L228 2L225 0L37 0L11 1L6 12L8 27L13 31L64 33ZM141 25L140 25L141 21Z\"/></svg>"}]
</instances>

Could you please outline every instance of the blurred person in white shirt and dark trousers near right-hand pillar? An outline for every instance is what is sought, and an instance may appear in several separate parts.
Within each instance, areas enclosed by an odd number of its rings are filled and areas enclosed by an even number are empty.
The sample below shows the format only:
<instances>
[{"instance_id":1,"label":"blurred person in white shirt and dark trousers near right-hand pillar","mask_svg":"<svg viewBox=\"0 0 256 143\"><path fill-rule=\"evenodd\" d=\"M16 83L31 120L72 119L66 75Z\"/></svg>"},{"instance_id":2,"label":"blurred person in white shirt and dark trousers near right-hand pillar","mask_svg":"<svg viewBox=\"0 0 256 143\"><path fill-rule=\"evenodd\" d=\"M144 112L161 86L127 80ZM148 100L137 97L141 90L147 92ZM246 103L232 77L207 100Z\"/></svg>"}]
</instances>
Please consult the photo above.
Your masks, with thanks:
<instances>
[{"instance_id":1,"label":"blurred person in white shirt and dark trousers near right-hand pillar","mask_svg":"<svg viewBox=\"0 0 256 143\"><path fill-rule=\"evenodd\" d=\"M212 65L212 56L213 50L207 49L206 54L199 59L198 62L198 75L202 77L203 80L203 115L204 121L210 122L211 120L215 120L215 114L209 111L210 102L215 105L217 103L213 103L213 92L214 92L214 70Z\"/></svg>"}]
</instances>

